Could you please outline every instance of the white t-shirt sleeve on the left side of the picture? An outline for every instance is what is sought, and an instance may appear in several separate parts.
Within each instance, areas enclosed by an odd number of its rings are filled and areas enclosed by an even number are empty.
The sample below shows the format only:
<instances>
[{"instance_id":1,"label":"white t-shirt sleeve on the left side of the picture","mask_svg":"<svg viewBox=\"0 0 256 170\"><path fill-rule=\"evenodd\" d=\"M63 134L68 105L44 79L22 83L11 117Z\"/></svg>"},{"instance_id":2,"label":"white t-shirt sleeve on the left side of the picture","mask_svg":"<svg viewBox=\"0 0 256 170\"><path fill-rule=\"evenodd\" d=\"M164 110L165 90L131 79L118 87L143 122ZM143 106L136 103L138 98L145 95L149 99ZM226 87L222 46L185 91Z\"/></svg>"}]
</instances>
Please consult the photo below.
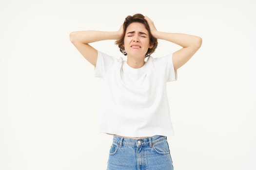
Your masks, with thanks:
<instances>
[{"instance_id":1,"label":"white t-shirt sleeve on the left side of the picture","mask_svg":"<svg viewBox=\"0 0 256 170\"><path fill-rule=\"evenodd\" d=\"M94 76L104 78L107 71L113 66L114 58L101 51L98 51L96 67L94 68Z\"/></svg>"}]
</instances>

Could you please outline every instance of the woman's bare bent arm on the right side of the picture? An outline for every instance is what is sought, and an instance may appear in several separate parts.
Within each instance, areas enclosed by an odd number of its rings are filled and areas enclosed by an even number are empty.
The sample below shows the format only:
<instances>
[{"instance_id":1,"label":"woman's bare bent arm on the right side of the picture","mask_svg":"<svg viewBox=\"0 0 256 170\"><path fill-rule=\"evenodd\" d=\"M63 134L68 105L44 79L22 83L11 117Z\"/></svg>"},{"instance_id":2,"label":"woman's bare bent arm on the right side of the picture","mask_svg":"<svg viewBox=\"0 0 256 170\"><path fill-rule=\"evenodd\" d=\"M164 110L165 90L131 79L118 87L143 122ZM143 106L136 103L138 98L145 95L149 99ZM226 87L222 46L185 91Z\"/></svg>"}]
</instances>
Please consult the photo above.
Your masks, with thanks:
<instances>
[{"instance_id":1,"label":"woman's bare bent arm on the right side of the picture","mask_svg":"<svg viewBox=\"0 0 256 170\"><path fill-rule=\"evenodd\" d=\"M152 20L148 17L145 17L145 19L148 21L150 31L154 37L173 42L183 47L173 53L173 65L175 69L183 66L201 47L202 38L189 34L159 32Z\"/></svg>"}]
</instances>

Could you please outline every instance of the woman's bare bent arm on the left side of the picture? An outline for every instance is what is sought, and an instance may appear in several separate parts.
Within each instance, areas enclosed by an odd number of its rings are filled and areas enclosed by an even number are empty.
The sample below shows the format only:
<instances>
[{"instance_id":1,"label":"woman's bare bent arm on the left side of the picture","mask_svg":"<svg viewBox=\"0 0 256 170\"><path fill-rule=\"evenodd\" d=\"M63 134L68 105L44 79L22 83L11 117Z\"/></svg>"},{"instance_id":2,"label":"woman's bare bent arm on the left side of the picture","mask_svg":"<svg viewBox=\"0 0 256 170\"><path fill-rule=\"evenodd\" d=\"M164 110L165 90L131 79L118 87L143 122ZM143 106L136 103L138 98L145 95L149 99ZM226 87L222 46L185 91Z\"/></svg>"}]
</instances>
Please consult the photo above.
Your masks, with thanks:
<instances>
[{"instance_id":1,"label":"woman's bare bent arm on the left side of the picture","mask_svg":"<svg viewBox=\"0 0 256 170\"><path fill-rule=\"evenodd\" d=\"M122 27L121 27L122 28ZM70 33L70 41L83 55L83 57L89 61L94 67L96 67L98 51L89 45L89 43L118 39L121 36L122 29L116 32L104 32L104 31L76 31Z\"/></svg>"}]
</instances>

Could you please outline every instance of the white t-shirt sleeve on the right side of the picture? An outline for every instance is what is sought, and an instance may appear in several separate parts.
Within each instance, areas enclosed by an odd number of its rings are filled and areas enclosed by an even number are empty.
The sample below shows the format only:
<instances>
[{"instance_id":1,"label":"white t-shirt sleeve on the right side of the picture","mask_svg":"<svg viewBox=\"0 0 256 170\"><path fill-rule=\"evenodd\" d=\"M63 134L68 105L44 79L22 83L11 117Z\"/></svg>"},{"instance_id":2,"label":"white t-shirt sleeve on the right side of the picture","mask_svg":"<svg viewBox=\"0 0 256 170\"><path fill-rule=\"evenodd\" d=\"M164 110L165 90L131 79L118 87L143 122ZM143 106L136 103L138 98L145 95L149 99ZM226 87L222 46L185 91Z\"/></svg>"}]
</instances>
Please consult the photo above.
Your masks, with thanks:
<instances>
[{"instance_id":1,"label":"white t-shirt sleeve on the right side of the picture","mask_svg":"<svg viewBox=\"0 0 256 170\"><path fill-rule=\"evenodd\" d=\"M165 75L166 82L177 80L177 70L173 66L173 55L169 54L164 57L155 58L159 70Z\"/></svg>"}]
</instances>

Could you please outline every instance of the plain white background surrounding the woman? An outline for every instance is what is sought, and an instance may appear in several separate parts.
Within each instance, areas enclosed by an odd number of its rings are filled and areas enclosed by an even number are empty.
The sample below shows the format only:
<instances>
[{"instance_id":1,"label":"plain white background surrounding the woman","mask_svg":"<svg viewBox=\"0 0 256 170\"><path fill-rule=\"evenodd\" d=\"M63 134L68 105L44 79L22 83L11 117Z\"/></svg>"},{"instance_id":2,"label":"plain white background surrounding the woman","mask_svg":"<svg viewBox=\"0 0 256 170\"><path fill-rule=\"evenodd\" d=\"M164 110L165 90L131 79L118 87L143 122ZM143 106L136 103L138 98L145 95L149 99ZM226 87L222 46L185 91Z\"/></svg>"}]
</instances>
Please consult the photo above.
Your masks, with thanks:
<instances>
[{"instance_id":1,"label":"plain white background surrounding the woman","mask_svg":"<svg viewBox=\"0 0 256 170\"><path fill-rule=\"evenodd\" d=\"M0 170L106 169L103 81L69 33L117 31L136 13L203 39L167 84L175 170L256 170L255 9L253 0L1 0ZM122 56L114 41L92 46ZM153 56L179 48L159 40Z\"/></svg>"}]
</instances>

